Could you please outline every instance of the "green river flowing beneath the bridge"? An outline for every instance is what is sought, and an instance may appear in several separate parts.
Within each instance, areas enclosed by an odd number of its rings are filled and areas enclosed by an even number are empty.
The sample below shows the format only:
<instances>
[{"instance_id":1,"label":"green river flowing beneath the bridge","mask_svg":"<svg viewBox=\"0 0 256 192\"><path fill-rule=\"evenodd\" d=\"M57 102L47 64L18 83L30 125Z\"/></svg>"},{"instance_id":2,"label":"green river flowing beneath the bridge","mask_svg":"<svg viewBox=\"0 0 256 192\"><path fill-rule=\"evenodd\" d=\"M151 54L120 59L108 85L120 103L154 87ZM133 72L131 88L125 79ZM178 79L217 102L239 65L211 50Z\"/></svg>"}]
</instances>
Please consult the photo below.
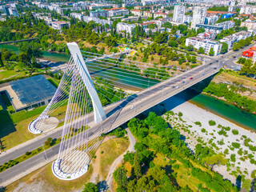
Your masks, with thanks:
<instances>
[{"instance_id":1,"label":"green river flowing beneath the bridge","mask_svg":"<svg viewBox=\"0 0 256 192\"><path fill-rule=\"evenodd\" d=\"M18 54L18 46L11 46L11 45L2 45L8 50L14 51ZM43 55L42 58L46 60L50 60L53 62L68 62L70 56L66 54L58 54L58 53L49 53L46 51L42 51ZM94 68L91 68L92 71ZM138 77L135 74L131 74L129 77L124 77L123 74L118 72L123 72L125 70L118 69L117 73L111 71L110 73L106 72L106 70L102 70L100 72L93 73L92 75L100 74L102 77L105 75L109 78L112 78L115 81L118 81L118 86L122 88L130 88L131 90L139 90L139 88L135 88L134 86L138 86L141 88L146 88L147 86L154 85L157 81ZM136 81L134 81L136 79ZM124 83L129 84L126 86ZM247 113L243 110L238 109L238 107L231 105L227 102L223 102L217 98L210 97L206 94L198 94L196 91L192 89L184 90L182 93L178 94L177 97L183 98L189 102L194 103L201 108L208 110L214 114L222 118L226 118L230 122L234 122L238 126L242 126L246 129L256 130L256 115Z\"/></svg>"}]
</instances>

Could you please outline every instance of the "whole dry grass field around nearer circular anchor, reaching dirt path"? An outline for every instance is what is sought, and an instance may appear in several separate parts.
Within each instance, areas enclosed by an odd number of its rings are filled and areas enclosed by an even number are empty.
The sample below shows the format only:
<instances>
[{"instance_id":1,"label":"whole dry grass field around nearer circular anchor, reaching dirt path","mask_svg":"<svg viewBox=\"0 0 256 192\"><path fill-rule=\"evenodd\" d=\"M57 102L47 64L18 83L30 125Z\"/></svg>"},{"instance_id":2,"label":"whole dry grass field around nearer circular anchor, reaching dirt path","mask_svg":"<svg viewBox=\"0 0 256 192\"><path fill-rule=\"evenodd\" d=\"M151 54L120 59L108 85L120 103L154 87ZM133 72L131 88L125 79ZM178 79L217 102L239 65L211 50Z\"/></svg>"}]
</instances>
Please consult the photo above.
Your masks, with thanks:
<instances>
[{"instance_id":1,"label":"whole dry grass field around nearer circular anchor, reaching dirt path","mask_svg":"<svg viewBox=\"0 0 256 192\"><path fill-rule=\"evenodd\" d=\"M118 158L128 146L128 138L110 138L106 142L102 142L96 153L97 157L93 161L95 162L95 160L99 159L98 164L93 166L90 164L88 172L74 181L62 181L55 178L51 170L52 163L49 163L17 182L12 183L10 186L7 186L7 191L82 191L84 184L89 182L94 173L94 166L102 171L99 173L100 177L106 176L108 174L107 168L111 166L114 159Z\"/></svg>"}]
</instances>

